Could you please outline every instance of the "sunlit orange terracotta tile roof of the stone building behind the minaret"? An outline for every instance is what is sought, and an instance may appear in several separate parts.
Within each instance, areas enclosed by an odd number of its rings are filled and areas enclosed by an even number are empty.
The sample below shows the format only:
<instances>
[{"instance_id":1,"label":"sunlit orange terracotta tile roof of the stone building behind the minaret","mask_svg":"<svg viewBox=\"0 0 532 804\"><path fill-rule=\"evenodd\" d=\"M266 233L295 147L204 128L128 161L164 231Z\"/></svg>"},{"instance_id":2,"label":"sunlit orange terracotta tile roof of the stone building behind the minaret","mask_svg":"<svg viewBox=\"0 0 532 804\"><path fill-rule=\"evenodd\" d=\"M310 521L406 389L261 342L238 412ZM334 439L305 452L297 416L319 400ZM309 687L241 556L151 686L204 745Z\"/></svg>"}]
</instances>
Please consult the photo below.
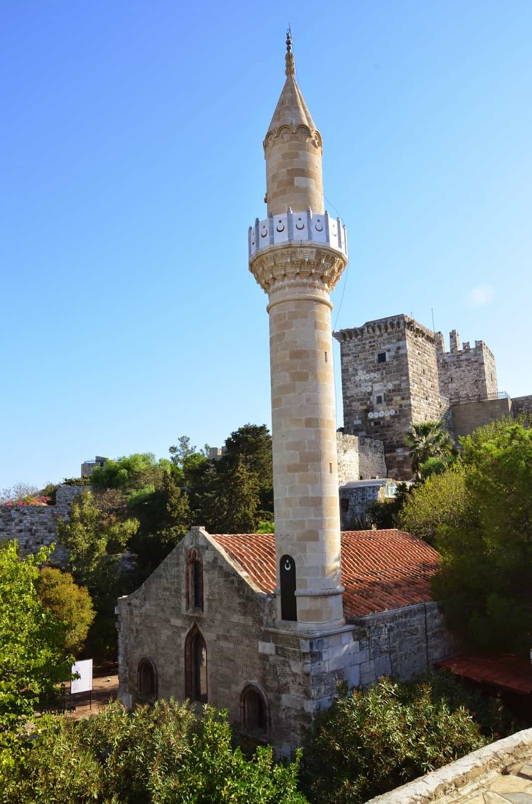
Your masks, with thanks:
<instances>
[{"instance_id":1,"label":"sunlit orange terracotta tile roof of the stone building behind the minaret","mask_svg":"<svg viewBox=\"0 0 532 804\"><path fill-rule=\"evenodd\" d=\"M275 536L211 534L262 592L276 587ZM398 530L342 533L342 584L346 617L430 601L430 577L438 554L421 539Z\"/></svg>"}]
</instances>

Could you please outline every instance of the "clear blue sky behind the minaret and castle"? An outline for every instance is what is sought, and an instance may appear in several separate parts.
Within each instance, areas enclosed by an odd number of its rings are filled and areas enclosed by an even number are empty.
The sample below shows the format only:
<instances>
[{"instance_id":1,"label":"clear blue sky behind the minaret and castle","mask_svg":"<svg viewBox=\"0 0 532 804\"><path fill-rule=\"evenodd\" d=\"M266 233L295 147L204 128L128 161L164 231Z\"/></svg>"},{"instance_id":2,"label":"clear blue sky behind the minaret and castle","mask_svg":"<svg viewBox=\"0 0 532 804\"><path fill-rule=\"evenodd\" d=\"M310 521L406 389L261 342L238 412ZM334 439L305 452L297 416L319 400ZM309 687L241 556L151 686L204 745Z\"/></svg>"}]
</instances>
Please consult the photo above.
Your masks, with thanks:
<instances>
[{"instance_id":1,"label":"clear blue sky behind the minaret and castle","mask_svg":"<svg viewBox=\"0 0 532 804\"><path fill-rule=\"evenodd\" d=\"M530 0L0 14L0 489L269 425L247 228L289 22L350 238L337 328L432 326L434 307L446 338L485 340L500 389L532 393Z\"/></svg>"}]
</instances>

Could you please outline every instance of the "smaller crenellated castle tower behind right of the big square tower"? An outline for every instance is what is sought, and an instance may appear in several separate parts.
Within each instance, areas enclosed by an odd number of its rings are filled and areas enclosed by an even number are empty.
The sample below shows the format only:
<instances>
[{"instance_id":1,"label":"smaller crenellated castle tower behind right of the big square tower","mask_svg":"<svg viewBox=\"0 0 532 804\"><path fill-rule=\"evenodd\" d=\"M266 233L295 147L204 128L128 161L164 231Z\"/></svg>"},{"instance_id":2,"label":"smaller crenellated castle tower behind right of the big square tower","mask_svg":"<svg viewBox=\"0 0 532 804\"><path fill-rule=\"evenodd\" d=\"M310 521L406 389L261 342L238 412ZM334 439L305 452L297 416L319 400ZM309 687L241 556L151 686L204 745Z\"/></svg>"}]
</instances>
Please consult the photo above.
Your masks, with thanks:
<instances>
[{"instance_id":1,"label":"smaller crenellated castle tower behind right of the big square tower","mask_svg":"<svg viewBox=\"0 0 532 804\"><path fill-rule=\"evenodd\" d=\"M497 393L497 367L493 352L484 341L469 342L460 348L456 330L449 334L450 351L444 351L444 336L436 332L436 355L440 378L440 392L453 399L488 396Z\"/></svg>"}]
</instances>

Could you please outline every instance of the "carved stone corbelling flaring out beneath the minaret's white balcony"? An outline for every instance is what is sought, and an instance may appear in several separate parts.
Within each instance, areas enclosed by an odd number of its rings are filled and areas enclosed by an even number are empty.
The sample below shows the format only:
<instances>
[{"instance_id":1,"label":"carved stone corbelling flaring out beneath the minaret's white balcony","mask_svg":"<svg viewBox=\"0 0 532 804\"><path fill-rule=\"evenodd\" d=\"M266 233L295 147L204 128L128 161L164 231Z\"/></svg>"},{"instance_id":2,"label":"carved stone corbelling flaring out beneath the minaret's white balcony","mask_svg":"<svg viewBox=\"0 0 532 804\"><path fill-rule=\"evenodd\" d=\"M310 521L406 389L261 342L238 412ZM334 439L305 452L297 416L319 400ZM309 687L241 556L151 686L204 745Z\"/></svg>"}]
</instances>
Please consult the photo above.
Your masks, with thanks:
<instances>
[{"instance_id":1,"label":"carved stone corbelling flaring out beneath the minaret's white balcony","mask_svg":"<svg viewBox=\"0 0 532 804\"><path fill-rule=\"evenodd\" d=\"M273 246L257 252L249 270L266 293L296 284L331 291L346 265L346 256L326 246Z\"/></svg>"}]
</instances>

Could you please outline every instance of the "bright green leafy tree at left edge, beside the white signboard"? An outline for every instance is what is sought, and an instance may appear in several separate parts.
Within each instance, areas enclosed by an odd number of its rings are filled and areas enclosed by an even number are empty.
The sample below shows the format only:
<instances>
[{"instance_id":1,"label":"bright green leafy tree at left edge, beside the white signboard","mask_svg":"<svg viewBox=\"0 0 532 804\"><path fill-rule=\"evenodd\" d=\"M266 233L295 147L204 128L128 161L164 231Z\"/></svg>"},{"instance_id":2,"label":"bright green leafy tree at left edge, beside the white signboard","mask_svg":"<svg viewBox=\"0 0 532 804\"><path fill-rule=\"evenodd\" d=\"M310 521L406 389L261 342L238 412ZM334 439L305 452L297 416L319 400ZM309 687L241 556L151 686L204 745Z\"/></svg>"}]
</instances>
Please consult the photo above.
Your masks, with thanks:
<instances>
[{"instance_id":1,"label":"bright green leafy tree at left edge, beside the white signboard","mask_svg":"<svg viewBox=\"0 0 532 804\"><path fill-rule=\"evenodd\" d=\"M67 628L37 596L39 564L50 552L42 548L21 560L16 542L0 545L0 771L39 696L71 677L72 657L64 654Z\"/></svg>"}]
</instances>

